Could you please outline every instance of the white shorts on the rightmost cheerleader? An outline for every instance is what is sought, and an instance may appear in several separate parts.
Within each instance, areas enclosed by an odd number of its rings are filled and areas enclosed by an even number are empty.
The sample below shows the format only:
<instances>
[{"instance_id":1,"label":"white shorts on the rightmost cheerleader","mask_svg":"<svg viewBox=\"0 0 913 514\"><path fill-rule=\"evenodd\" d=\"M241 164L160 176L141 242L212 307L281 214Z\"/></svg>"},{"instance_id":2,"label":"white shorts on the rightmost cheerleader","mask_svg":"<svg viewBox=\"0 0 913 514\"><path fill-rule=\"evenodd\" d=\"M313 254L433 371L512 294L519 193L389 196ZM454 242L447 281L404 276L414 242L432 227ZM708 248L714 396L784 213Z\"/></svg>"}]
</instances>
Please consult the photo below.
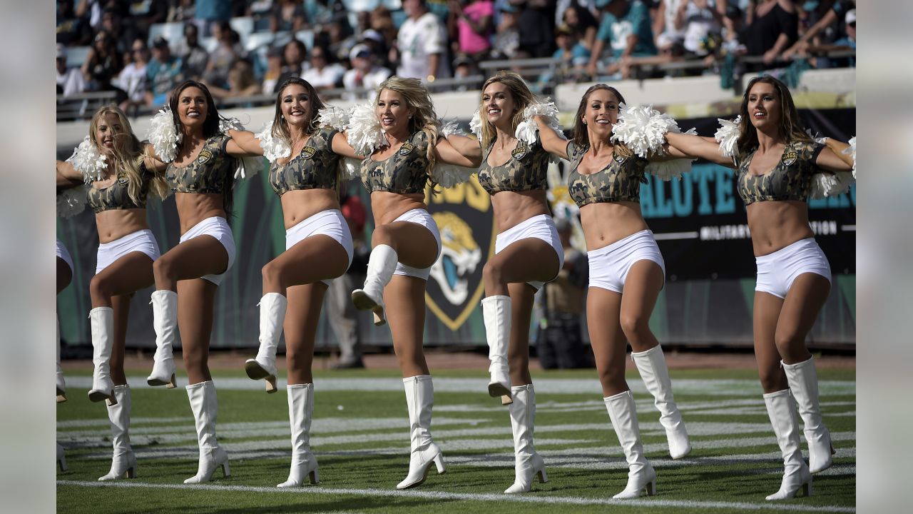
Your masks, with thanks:
<instances>
[{"instance_id":1,"label":"white shorts on the rightmost cheerleader","mask_svg":"<svg viewBox=\"0 0 913 514\"><path fill-rule=\"evenodd\" d=\"M761 255L755 291L785 298L792 282L803 273L815 273L831 282L831 265L814 238L795 241L786 248Z\"/></svg>"}]
</instances>

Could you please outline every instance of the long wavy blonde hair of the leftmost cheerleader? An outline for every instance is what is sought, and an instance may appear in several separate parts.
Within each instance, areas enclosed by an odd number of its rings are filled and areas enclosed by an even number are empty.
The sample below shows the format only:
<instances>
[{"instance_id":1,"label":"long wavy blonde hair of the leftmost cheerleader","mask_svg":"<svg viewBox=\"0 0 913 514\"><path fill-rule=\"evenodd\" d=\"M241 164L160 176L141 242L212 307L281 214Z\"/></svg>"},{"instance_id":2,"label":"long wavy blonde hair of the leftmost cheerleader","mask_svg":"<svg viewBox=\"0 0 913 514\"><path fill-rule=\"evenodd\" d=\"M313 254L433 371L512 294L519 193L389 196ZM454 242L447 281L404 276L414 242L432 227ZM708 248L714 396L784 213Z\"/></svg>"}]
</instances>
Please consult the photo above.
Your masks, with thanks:
<instances>
[{"instance_id":1,"label":"long wavy blonde hair of the leftmost cheerleader","mask_svg":"<svg viewBox=\"0 0 913 514\"><path fill-rule=\"evenodd\" d=\"M114 147L110 151L110 158L114 163L114 169L127 178L127 195L134 204L139 205L144 180L141 166L145 155L140 140L137 139L136 134L133 134L133 128L127 115L116 105L100 107L92 115L92 121L89 123L89 141L96 148L101 148L101 142L98 140L96 132L99 124L109 114L117 116L122 128L122 132L114 134ZM154 176L152 173L150 176L149 192L155 197L165 198L168 195L168 186L164 177Z\"/></svg>"}]
</instances>

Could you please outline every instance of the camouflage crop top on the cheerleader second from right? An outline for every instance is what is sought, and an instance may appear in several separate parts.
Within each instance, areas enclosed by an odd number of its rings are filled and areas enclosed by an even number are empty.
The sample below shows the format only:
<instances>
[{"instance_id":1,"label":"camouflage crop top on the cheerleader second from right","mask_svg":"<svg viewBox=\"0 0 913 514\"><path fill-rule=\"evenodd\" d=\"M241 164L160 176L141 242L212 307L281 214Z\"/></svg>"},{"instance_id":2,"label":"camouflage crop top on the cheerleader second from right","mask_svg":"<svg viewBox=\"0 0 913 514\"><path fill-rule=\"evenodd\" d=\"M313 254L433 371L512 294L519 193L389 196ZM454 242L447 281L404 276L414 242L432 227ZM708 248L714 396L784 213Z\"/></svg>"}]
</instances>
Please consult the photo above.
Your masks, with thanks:
<instances>
[{"instance_id":1,"label":"camouflage crop top on the cheerleader second from right","mask_svg":"<svg viewBox=\"0 0 913 514\"><path fill-rule=\"evenodd\" d=\"M571 175L568 176L568 194L578 207L602 202L640 202L640 185L646 184L646 159L634 155L624 146L615 146L609 166L581 175L578 171L583 155L590 146L578 146L569 142L568 156L571 158Z\"/></svg>"}]
</instances>

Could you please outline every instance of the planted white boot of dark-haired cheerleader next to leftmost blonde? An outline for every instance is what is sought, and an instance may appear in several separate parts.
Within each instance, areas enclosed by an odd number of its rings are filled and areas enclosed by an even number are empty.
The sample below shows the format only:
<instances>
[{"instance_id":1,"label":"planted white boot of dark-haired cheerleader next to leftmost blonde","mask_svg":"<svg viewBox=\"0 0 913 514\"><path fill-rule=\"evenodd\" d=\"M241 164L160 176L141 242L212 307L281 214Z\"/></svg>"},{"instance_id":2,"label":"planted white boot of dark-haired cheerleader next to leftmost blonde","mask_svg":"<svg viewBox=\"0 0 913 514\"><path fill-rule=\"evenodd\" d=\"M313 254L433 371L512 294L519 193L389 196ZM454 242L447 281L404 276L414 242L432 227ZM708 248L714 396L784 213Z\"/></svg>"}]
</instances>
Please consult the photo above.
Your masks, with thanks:
<instances>
[{"instance_id":1,"label":"planted white boot of dark-haired cheerleader next to leftmost blonde","mask_svg":"<svg viewBox=\"0 0 913 514\"><path fill-rule=\"evenodd\" d=\"M228 454L215 439L215 417L219 412L219 403L215 398L215 384L206 380L186 386L190 409L194 412L196 438L200 446L200 463L194 477L184 480L184 484L201 484L208 482L215 473L215 468L222 466L226 477L231 477L228 466Z\"/></svg>"}]
</instances>

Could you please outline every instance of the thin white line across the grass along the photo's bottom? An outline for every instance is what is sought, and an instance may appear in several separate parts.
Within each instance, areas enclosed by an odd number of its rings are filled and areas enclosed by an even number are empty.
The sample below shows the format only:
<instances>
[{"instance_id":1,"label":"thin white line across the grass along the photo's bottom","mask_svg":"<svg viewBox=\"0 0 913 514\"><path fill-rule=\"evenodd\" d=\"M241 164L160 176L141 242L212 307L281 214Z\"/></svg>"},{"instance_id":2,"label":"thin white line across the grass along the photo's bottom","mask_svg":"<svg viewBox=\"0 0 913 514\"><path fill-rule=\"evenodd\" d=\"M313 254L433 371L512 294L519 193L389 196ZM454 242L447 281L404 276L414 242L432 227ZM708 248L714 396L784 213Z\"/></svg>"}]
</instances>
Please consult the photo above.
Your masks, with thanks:
<instances>
[{"instance_id":1,"label":"thin white line across the grass along the photo's bottom","mask_svg":"<svg viewBox=\"0 0 913 514\"><path fill-rule=\"evenodd\" d=\"M329 488L329 487L250 487L250 486L221 486L218 484L148 484L136 480L123 480L118 482L89 482L82 480L58 480L58 486L73 487L128 487L149 489L184 489L188 491L209 490L222 492L247 492L286 495L349 495L367 497L392 497L392 498L424 498L428 500L467 500L467 501L496 501L515 502L544 505L605 505L615 507L666 507L697 511L703 509L725 510L775 510L788 512L855 512L852 507L837 506L811 506L798 503L748 503L736 501L694 501L660 498L641 498L616 500L612 498L575 498L551 497L530 495L498 495L498 494L472 494L472 493L444 493L437 491L408 490L398 491L391 489L356 489L356 488Z\"/></svg>"}]
</instances>

